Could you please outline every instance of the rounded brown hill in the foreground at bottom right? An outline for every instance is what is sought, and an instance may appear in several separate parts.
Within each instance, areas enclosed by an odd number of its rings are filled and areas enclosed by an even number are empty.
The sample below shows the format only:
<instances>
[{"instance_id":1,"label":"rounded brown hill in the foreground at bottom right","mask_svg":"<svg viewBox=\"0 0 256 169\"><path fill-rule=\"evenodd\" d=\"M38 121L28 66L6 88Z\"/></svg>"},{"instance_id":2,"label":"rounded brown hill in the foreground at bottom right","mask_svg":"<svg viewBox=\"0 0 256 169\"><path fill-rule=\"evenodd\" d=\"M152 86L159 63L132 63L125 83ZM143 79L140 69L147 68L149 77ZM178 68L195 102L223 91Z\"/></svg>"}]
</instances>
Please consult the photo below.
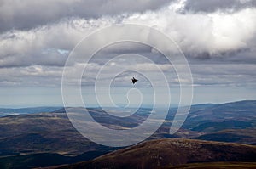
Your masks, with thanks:
<instances>
[{"instance_id":1,"label":"rounded brown hill in the foreground at bottom right","mask_svg":"<svg viewBox=\"0 0 256 169\"><path fill-rule=\"evenodd\" d=\"M59 168L161 168L196 162L254 162L255 159L253 145L169 138L147 141L92 161Z\"/></svg>"}]
</instances>

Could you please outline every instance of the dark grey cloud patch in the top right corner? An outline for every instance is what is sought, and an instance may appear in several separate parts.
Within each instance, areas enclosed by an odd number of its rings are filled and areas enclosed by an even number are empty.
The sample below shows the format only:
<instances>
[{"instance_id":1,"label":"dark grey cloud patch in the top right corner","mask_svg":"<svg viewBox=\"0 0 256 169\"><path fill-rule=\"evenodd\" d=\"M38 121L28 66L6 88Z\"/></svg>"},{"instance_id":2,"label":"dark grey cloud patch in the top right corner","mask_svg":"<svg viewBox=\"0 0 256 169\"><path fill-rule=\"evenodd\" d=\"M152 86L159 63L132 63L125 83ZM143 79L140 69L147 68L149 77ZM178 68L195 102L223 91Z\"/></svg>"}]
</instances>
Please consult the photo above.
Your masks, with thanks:
<instances>
[{"instance_id":1,"label":"dark grey cloud patch in the top right corner","mask_svg":"<svg viewBox=\"0 0 256 169\"><path fill-rule=\"evenodd\" d=\"M234 12L242 8L255 7L254 0L187 0L185 3L185 11L190 12L206 12L214 11Z\"/></svg>"}]
</instances>

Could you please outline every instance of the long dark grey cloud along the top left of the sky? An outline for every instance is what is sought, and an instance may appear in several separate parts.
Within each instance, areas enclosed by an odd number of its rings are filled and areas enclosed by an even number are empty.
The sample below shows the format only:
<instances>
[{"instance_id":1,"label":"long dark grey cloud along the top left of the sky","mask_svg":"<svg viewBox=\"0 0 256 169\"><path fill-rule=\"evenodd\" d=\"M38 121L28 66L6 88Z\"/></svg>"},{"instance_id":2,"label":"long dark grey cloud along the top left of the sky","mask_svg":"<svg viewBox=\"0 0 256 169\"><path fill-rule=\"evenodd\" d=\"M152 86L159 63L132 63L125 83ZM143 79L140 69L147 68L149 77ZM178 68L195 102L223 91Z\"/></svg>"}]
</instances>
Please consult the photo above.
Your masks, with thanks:
<instances>
[{"instance_id":1,"label":"long dark grey cloud along the top left of the sky","mask_svg":"<svg viewBox=\"0 0 256 169\"><path fill-rule=\"evenodd\" d=\"M99 18L103 15L130 14L160 8L170 0L2 0L0 32L28 30L54 23L65 17Z\"/></svg>"}]
</instances>

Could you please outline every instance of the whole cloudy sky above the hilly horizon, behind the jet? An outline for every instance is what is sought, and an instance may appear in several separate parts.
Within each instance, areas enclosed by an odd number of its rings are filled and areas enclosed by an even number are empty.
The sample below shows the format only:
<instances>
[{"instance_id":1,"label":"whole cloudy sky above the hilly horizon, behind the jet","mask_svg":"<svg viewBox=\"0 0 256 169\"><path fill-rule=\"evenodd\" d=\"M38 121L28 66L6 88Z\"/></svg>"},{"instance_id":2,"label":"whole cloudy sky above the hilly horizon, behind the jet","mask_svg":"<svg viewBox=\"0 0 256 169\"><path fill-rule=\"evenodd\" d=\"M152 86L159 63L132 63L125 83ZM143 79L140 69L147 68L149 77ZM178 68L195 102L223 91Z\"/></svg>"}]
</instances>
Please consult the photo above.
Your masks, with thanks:
<instances>
[{"instance_id":1,"label":"whole cloudy sky above the hilly horizon, behind the jet","mask_svg":"<svg viewBox=\"0 0 256 169\"><path fill-rule=\"evenodd\" d=\"M1 0L0 107L62 106L61 78L73 49L84 37L117 24L147 25L177 43L193 77L193 104L256 99L255 18L253 0ZM122 33L140 36L129 31L110 35ZM95 39L89 48L102 40ZM154 48L120 42L102 48L90 63L66 65L70 106L79 105L72 75L84 65L81 90L87 106L98 105L94 91L102 67L97 93L103 106L112 106L108 91L120 106L137 105L142 95L143 105L153 104L152 84L165 98L156 65L168 81L171 104L179 103L179 85L186 82ZM129 71L133 67L137 72ZM121 68L127 71L112 78ZM132 76L139 79L135 86Z\"/></svg>"}]
</instances>

